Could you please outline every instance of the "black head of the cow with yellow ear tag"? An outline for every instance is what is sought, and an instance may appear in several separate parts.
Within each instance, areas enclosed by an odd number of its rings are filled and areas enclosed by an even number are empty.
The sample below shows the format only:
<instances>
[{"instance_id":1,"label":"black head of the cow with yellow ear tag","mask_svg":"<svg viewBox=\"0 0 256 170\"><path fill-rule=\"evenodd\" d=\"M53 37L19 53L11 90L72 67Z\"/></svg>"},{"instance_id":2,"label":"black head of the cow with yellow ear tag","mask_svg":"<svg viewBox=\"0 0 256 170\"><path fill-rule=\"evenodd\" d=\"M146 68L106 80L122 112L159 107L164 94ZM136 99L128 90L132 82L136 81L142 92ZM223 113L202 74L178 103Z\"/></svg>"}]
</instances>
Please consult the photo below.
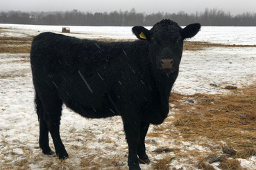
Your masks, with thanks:
<instances>
[{"instance_id":1,"label":"black head of the cow with yellow ear tag","mask_svg":"<svg viewBox=\"0 0 256 170\"><path fill-rule=\"evenodd\" d=\"M153 67L168 75L178 71L183 41L194 37L199 30L199 23L192 23L182 29L169 19L155 23L151 30L143 26L133 27L136 37L148 43L148 55Z\"/></svg>"}]
</instances>

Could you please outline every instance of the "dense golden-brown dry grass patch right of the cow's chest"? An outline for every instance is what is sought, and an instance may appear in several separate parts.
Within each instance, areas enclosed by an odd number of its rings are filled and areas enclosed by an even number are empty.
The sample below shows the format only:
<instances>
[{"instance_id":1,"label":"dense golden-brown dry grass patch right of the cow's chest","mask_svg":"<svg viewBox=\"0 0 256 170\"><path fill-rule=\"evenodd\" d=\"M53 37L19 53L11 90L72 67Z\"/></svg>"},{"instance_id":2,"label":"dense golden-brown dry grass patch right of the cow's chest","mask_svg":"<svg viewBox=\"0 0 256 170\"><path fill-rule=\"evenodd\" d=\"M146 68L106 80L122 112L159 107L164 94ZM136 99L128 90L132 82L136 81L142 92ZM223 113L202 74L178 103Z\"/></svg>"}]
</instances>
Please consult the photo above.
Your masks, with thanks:
<instances>
[{"instance_id":1,"label":"dense golden-brown dry grass patch right of the cow's chest","mask_svg":"<svg viewBox=\"0 0 256 170\"><path fill-rule=\"evenodd\" d=\"M184 138L205 136L213 142L225 140L230 147L254 147L256 138L256 86L236 89L230 95L190 95L191 104L175 102L179 108L174 124Z\"/></svg>"}]
</instances>

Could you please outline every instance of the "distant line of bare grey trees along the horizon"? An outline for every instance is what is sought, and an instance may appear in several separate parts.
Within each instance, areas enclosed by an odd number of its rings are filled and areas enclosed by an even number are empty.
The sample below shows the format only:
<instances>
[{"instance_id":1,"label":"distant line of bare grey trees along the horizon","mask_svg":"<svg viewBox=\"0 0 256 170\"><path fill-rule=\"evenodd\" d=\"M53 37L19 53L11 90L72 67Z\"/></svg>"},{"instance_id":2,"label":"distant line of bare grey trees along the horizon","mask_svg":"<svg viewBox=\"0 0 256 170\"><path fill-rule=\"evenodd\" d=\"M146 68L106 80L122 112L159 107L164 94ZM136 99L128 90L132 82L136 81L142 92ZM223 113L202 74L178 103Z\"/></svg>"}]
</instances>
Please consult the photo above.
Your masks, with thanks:
<instances>
[{"instance_id":1,"label":"distant line of bare grey trees along the horizon","mask_svg":"<svg viewBox=\"0 0 256 170\"><path fill-rule=\"evenodd\" d=\"M9 11L0 13L0 23L18 23L35 25L56 26L153 26L161 19L171 19L180 26L189 23L201 23L202 26L256 26L256 13L244 12L239 15L231 15L217 8L205 8L204 12L187 14L157 12L145 14L136 12L135 8L130 11L113 12L81 12L72 10L67 12L21 12Z\"/></svg>"}]
</instances>

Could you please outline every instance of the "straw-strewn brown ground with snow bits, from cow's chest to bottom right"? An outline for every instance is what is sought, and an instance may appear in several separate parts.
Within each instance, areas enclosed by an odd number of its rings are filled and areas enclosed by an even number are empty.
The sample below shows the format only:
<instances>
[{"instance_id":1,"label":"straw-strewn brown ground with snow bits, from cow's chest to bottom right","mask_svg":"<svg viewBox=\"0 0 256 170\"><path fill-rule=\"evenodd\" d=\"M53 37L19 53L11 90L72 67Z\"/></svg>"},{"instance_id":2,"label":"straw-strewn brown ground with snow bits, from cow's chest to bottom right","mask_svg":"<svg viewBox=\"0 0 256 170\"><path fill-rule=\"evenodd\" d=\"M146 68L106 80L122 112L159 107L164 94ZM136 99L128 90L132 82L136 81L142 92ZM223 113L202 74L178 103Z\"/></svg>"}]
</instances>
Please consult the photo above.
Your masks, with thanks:
<instances>
[{"instance_id":1,"label":"straw-strewn brown ground with snow bits, from cow's chest to bottom right","mask_svg":"<svg viewBox=\"0 0 256 170\"><path fill-rule=\"evenodd\" d=\"M256 84L244 88L228 89L228 95L180 95L172 93L170 103L173 114L158 125L147 137L182 137L183 141L209 149L210 152L185 151L192 156L199 169L214 169L212 162L221 162L220 169L242 169L237 158L248 159L256 155ZM194 103L185 102L187 98ZM172 126L174 125L174 126ZM169 133L171 131L172 133ZM184 151L183 151L184 152ZM184 153L170 153L164 160L155 160L157 167L168 169L170 158L184 158ZM215 154L212 158L212 154ZM189 158L191 159L191 158ZM189 164L189 162L187 162Z\"/></svg>"}]
</instances>

